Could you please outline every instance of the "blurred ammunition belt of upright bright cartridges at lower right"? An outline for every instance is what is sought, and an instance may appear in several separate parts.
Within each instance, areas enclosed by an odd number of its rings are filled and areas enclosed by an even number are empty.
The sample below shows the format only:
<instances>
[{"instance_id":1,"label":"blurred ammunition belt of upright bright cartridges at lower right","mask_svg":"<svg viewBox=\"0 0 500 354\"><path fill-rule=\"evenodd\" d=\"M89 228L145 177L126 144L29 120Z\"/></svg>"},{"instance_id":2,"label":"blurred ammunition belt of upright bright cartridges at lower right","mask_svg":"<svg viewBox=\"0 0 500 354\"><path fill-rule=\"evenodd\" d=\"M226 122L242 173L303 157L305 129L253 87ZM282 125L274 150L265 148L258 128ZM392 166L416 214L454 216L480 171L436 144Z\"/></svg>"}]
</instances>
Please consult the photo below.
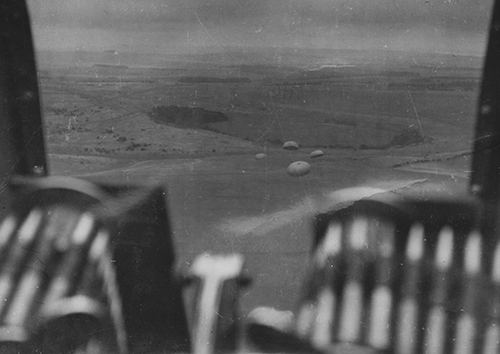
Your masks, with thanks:
<instances>
[{"instance_id":1,"label":"blurred ammunition belt of upright bright cartridges at lower right","mask_svg":"<svg viewBox=\"0 0 500 354\"><path fill-rule=\"evenodd\" d=\"M499 353L500 242L485 242L481 214L472 198L382 194L319 215L295 316L260 309L250 338L263 351Z\"/></svg>"}]
</instances>

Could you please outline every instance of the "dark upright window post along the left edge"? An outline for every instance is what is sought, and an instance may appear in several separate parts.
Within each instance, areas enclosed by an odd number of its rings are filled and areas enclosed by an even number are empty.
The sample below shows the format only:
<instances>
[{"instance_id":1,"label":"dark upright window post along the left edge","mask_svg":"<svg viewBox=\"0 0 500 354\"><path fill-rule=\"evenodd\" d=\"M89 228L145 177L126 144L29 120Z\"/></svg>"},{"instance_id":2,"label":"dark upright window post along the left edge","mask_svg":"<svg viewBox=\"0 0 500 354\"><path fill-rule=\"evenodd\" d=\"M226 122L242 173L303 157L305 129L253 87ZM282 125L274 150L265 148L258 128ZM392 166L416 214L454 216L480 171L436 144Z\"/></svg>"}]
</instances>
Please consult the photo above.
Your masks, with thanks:
<instances>
[{"instance_id":1,"label":"dark upright window post along the left edge","mask_svg":"<svg viewBox=\"0 0 500 354\"><path fill-rule=\"evenodd\" d=\"M24 1L0 2L0 216L9 176L47 174L30 19Z\"/></svg>"}]
</instances>

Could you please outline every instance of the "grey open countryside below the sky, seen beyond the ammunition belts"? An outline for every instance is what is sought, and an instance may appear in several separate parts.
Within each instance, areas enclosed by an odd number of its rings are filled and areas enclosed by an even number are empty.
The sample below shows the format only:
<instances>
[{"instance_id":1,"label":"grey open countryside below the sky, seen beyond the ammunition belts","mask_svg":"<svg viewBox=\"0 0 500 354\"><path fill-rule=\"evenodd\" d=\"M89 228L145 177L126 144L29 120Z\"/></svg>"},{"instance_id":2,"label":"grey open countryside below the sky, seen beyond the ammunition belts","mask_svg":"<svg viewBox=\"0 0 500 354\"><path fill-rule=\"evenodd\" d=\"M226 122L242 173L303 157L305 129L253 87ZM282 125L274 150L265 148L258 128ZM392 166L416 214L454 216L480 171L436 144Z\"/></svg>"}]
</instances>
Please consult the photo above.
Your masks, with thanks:
<instances>
[{"instance_id":1,"label":"grey open countryside below the sky, seen beyond the ammunition belts","mask_svg":"<svg viewBox=\"0 0 500 354\"><path fill-rule=\"evenodd\" d=\"M246 47L37 55L52 174L165 184L179 267L203 251L242 252L256 278L245 309L293 308L312 216L342 201L339 189L467 187L478 56ZM287 141L298 148L283 149ZM290 175L294 161L310 171Z\"/></svg>"}]
</instances>

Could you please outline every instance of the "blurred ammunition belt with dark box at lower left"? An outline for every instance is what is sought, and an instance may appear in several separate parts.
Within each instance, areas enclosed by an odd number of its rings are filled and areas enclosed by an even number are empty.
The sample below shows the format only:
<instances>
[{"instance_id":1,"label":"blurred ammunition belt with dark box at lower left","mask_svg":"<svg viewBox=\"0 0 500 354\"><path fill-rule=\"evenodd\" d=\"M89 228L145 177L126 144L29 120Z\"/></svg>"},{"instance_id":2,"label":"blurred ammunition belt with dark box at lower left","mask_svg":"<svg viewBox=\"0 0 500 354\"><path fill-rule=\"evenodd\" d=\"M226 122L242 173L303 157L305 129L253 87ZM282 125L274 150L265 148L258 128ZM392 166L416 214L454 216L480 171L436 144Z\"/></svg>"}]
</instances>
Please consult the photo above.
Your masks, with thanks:
<instances>
[{"instance_id":1,"label":"blurred ammunition belt with dark box at lower left","mask_svg":"<svg viewBox=\"0 0 500 354\"><path fill-rule=\"evenodd\" d=\"M162 188L49 177L16 179L11 190L0 352L189 350Z\"/></svg>"}]
</instances>

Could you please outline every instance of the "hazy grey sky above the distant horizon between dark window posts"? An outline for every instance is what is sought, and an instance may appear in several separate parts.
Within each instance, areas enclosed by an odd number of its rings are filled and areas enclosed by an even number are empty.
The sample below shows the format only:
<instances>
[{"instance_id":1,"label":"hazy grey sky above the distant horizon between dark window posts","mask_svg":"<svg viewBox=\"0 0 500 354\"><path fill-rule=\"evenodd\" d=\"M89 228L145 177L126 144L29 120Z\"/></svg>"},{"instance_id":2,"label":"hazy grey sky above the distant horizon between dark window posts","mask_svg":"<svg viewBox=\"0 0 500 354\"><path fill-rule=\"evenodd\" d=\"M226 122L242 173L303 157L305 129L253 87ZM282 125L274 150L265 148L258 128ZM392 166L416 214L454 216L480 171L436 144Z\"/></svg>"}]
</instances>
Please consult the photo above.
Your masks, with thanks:
<instances>
[{"instance_id":1,"label":"hazy grey sky above the distant horizon between dark window posts","mask_svg":"<svg viewBox=\"0 0 500 354\"><path fill-rule=\"evenodd\" d=\"M40 48L389 48L481 54L492 0L29 0Z\"/></svg>"}]
</instances>

